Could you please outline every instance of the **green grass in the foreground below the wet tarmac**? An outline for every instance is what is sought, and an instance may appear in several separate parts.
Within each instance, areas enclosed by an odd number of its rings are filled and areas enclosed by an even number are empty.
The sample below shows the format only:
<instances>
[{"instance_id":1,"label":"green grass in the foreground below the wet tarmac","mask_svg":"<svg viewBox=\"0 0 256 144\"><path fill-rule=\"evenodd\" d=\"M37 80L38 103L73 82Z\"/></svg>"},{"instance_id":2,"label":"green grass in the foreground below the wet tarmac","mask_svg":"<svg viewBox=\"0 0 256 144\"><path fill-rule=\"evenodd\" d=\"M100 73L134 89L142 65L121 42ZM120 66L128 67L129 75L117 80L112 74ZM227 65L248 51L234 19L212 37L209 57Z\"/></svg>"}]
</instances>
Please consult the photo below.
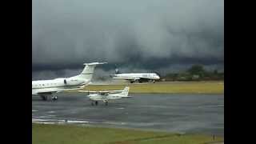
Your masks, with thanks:
<instances>
[{"instance_id":1,"label":"green grass in the foreground below the wet tarmac","mask_svg":"<svg viewBox=\"0 0 256 144\"><path fill-rule=\"evenodd\" d=\"M212 136L203 134L181 135L118 128L32 124L32 143L34 144L200 144L222 141L222 137L215 137L213 140Z\"/></svg>"}]
</instances>

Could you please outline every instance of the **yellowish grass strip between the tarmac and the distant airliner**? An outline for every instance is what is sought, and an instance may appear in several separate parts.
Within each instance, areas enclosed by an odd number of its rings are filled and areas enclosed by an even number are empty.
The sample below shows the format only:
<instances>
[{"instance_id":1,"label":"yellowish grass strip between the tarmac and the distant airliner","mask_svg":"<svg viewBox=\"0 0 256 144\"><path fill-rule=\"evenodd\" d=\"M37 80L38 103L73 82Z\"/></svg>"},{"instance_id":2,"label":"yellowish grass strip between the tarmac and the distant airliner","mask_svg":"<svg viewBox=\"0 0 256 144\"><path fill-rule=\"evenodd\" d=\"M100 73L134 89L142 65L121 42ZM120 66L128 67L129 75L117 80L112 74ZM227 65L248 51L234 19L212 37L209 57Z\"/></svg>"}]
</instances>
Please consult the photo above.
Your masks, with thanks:
<instances>
[{"instance_id":1,"label":"yellowish grass strip between the tarmac and the distant airliner","mask_svg":"<svg viewBox=\"0 0 256 144\"><path fill-rule=\"evenodd\" d=\"M224 82L156 82L143 84L90 85L84 90L121 90L130 86L130 94L223 94Z\"/></svg>"}]
</instances>

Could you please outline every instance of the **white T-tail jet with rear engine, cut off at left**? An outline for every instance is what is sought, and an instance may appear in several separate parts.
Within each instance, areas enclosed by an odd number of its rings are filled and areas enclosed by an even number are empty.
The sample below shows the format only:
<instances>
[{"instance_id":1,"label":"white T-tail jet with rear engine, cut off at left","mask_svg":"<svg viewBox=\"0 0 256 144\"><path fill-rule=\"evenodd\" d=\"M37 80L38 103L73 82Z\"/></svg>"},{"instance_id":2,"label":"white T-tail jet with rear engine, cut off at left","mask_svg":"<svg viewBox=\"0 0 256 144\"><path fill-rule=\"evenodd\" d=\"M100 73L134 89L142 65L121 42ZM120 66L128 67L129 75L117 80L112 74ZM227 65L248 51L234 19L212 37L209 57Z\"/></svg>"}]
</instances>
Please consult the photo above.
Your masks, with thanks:
<instances>
[{"instance_id":1,"label":"white T-tail jet with rear engine, cut off at left","mask_svg":"<svg viewBox=\"0 0 256 144\"><path fill-rule=\"evenodd\" d=\"M70 78L32 81L32 95L39 95L43 100L47 100L49 96L52 96L51 98L53 100L57 100L58 97L54 96L54 93L66 90L78 90L90 84L95 66L105 63L106 62L84 63L83 65L85 65L85 67L82 73Z\"/></svg>"}]
</instances>

